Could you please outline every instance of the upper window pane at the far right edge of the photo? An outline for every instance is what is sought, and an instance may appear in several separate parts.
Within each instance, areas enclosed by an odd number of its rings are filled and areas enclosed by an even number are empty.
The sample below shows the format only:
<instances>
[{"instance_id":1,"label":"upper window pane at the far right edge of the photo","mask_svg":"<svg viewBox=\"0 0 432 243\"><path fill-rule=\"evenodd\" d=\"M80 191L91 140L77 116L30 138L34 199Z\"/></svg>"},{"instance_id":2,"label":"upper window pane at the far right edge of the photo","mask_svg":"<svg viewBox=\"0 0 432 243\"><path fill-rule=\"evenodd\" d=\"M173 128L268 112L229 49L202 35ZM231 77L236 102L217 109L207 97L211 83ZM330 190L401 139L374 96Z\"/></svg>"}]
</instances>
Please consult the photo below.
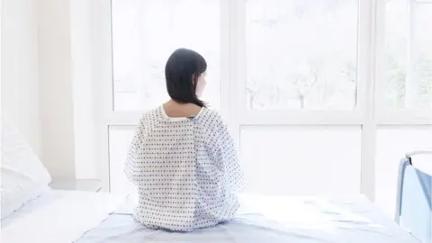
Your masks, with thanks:
<instances>
[{"instance_id":1,"label":"upper window pane at the far right edge of the photo","mask_svg":"<svg viewBox=\"0 0 432 243\"><path fill-rule=\"evenodd\" d=\"M432 107L432 4L388 0L385 6L385 93L390 109ZM412 14L410 18L410 13Z\"/></svg>"}]
</instances>

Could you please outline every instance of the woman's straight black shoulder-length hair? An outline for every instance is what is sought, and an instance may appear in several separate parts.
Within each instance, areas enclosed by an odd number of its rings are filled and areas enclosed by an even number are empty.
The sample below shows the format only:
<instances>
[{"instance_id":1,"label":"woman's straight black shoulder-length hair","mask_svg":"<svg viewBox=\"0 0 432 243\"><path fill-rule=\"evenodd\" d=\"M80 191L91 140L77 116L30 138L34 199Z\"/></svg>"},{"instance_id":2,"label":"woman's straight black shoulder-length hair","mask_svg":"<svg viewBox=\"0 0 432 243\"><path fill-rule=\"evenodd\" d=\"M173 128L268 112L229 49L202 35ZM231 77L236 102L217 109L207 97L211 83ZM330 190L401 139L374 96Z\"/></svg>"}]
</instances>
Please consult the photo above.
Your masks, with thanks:
<instances>
[{"instance_id":1,"label":"woman's straight black shoulder-length hair","mask_svg":"<svg viewBox=\"0 0 432 243\"><path fill-rule=\"evenodd\" d=\"M166 90L178 103L194 103L206 107L195 91L198 77L207 69L204 58L192 49L176 49L166 61Z\"/></svg>"}]
</instances>

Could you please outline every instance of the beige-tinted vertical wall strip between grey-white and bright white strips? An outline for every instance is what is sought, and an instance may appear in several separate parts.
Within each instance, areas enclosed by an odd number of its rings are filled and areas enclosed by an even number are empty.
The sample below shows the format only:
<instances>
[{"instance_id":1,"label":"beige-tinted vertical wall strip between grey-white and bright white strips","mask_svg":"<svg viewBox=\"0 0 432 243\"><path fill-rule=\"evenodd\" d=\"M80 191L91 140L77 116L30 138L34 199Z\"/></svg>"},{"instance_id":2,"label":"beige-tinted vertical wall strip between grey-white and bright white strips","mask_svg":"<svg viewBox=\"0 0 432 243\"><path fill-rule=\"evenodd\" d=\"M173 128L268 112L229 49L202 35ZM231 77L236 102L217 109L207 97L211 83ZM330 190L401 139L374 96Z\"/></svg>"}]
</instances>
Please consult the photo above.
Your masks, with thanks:
<instances>
[{"instance_id":1,"label":"beige-tinted vertical wall strip between grey-white and bright white strips","mask_svg":"<svg viewBox=\"0 0 432 243\"><path fill-rule=\"evenodd\" d=\"M41 159L54 178L76 176L69 10L69 1L38 1Z\"/></svg>"}]
</instances>

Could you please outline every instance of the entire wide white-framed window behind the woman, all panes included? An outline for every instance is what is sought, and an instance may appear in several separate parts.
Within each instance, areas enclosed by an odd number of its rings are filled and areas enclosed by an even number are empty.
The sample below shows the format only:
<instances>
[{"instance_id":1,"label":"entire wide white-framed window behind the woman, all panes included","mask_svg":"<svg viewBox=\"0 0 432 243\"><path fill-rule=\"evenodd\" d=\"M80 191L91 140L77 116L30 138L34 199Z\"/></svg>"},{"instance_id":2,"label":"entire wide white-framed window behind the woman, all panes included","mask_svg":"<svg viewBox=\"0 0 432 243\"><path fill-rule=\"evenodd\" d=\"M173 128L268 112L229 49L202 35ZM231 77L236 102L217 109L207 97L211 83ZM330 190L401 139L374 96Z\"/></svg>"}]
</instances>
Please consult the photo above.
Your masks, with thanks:
<instances>
[{"instance_id":1,"label":"entire wide white-framed window behind the woman, all panes included","mask_svg":"<svg viewBox=\"0 0 432 243\"><path fill-rule=\"evenodd\" d=\"M112 70L95 99L105 190L128 186L133 128L167 99L180 47L209 63L204 99L225 115L252 192L365 193L392 214L401 156L432 148L430 0L109 2L94 2L95 26L112 21L94 40L112 53L94 58Z\"/></svg>"}]
</instances>

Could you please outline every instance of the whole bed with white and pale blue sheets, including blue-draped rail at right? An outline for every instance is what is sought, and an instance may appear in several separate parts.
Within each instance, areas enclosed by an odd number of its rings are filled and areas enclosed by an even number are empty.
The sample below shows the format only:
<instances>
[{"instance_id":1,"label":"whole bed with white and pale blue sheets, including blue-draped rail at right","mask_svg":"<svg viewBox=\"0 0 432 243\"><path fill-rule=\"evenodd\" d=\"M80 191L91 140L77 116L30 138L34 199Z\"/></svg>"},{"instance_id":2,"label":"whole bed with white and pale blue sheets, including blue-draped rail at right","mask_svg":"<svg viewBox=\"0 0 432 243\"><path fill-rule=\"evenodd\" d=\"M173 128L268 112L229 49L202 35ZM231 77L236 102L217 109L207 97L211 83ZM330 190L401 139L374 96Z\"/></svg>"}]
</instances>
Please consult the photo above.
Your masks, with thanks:
<instances>
[{"instance_id":1,"label":"whole bed with white and pale blue sheets, including blue-draped rail at right","mask_svg":"<svg viewBox=\"0 0 432 243\"><path fill-rule=\"evenodd\" d=\"M432 151L410 153L402 159L396 221L362 195L242 194L243 206L235 220L211 229L175 233L146 229L134 221L131 196L50 190L2 220L2 242L429 243L431 176L417 169L412 159L428 153Z\"/></svg>"}]
</instances>

